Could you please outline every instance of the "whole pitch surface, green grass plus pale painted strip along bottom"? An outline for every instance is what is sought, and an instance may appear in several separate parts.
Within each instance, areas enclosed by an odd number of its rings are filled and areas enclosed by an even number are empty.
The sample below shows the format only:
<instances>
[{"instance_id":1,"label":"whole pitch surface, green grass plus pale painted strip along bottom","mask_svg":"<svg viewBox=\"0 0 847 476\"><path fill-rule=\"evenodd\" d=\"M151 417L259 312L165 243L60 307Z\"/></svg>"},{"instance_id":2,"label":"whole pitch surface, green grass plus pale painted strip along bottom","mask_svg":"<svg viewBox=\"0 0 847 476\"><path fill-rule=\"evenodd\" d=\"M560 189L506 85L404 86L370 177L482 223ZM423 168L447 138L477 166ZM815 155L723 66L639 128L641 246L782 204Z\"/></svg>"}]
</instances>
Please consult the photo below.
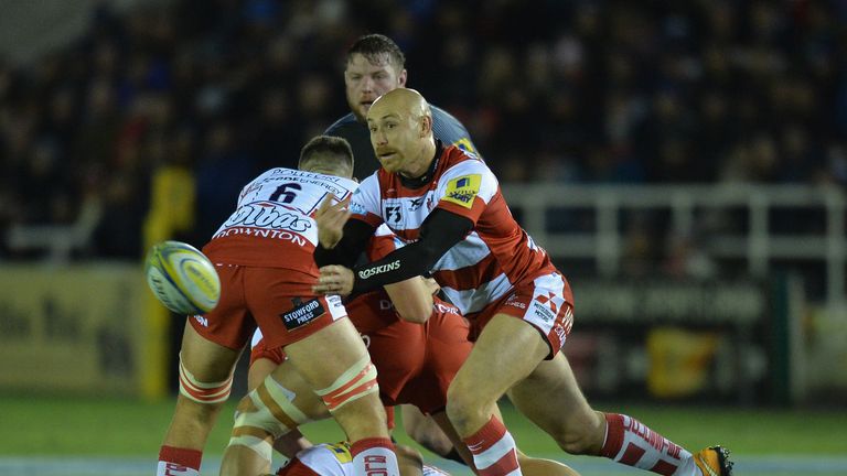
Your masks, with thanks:
<instances>
[{"instance_id":1,"label":"whole pitch surface, green grass plus pale painted strip along bottom","mask_svg":"<svg viewBox=\"0 0 847 476\"><path fill-rule=\"evenodd\" d=\"M235 399L233 399L235 400ZM739 409L634 405L594 402L603 411L628 413L690 451L720 443L732 450L736 476L844 476L847 474L847 412L833 410ZM203 474L217 473L228 441L235 402L226 405L206 446ZM149 476L153 474L173 400L0 396L0 474L34 476ZM570 456L556 447L511 405L506 424L521 448L570 464L583 476L648 474L604 458ZM332 421L303 429L314 442L341 440ZM414 444L401 431L398 441ZM472 476L452 462L424 452L454 476ZM281 459L279 459L281 462Z\"/></svg>"}]
</instances>

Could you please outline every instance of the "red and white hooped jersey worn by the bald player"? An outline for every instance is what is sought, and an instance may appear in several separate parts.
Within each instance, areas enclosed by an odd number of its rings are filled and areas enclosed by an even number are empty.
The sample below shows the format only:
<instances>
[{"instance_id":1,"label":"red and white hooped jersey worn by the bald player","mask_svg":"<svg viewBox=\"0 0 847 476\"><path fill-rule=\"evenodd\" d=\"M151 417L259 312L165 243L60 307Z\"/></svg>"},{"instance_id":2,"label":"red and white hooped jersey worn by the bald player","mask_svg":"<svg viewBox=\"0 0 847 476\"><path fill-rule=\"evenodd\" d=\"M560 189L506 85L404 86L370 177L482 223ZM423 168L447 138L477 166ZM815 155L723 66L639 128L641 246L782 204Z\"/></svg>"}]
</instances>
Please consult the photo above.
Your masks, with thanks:
<instances>
[{"instance_id":1,"label":"red and white hooped jersey worn by the bald player","mask_svg":"<svg viewBox=\"0 0 847 476\"><path fill-rule=\"evenodd\" d=\"M432 180L404 186L399 175L379 169L353 195L353 218L385 224L403 241L418 239L436 208L464 216L473 230L435 264L433 278L462 314L479 312L518 283L554 272L547 252L515 221L500 184L485 163L450 145L436 158Z\"/></svg>"}]
</instances>

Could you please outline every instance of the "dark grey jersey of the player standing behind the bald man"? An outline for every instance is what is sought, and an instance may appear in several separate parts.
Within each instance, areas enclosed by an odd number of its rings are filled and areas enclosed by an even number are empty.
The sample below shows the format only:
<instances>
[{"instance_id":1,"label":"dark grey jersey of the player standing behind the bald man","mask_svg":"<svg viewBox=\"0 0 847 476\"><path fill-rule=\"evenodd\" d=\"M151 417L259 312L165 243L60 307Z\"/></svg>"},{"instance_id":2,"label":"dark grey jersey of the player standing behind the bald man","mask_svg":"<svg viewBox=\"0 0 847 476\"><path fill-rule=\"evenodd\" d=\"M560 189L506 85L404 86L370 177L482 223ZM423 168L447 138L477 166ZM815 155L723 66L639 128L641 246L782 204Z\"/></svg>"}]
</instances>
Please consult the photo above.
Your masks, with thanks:
<instances>
[{"instance_id":1,"label":"dark grey jersey of the player standing behind the bald man","mask_svg":"<svg viewBox=\"0 0 847 476\"><path fill-rule=\"evenodd\" d=\"M471 134L459 119L436 106L430 105L430 109L432 110L432 134L437 139L446 144L454 144L463 150L476 152ZM350 142L353 156L356 158L353 176L364 180L379 169L379 161L371 144L371 131L367 125L360 122L352 112L335 121L324 134L342 137Z\"/></svg>"}]
</instances>

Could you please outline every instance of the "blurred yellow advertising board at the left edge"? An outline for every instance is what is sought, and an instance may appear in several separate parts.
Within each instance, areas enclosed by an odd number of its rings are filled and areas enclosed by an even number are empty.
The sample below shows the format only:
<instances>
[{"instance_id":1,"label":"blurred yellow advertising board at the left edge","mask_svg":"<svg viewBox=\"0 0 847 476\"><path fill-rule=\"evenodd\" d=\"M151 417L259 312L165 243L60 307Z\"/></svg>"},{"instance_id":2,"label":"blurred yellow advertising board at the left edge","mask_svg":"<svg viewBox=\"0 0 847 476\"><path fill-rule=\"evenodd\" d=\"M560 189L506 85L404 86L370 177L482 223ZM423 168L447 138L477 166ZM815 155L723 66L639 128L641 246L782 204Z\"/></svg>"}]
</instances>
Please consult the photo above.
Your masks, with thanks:
<instances>
[{"instance_id":1,"label":"blurred yellow advertising board at the left edge","mask_svg":"<svg viewBox=\"0 0 847 476\"><path fill-rule=\"evenodd\" d=\"M0 391L157 397L151 299L140 264L0 267Z\"/></svg>"}]
</instances>

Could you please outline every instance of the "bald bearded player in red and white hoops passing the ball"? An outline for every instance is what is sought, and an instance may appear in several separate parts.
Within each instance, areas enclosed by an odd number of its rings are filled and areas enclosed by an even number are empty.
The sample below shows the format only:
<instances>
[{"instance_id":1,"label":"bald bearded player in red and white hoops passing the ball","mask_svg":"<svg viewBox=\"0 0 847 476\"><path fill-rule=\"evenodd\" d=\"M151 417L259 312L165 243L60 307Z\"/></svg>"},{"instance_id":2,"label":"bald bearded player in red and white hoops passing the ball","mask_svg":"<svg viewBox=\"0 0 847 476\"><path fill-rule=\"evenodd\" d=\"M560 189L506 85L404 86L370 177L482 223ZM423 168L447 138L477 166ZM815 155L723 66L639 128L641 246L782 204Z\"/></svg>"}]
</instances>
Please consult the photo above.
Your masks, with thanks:
<instances>
[{"instance_id":1,"label":"bald bearded player in red and white hoops passing the ball","mask_svg":"<svg viewBox=\"0 0 847 476\"><path fill-rule=\"evenodd\" d=\"M522 474L514 440L494 415L506 392L568 453L666 476L731 474L719 446L691 454L629 415L588 404L560 353L573 322L570 285L512 217L491 170L433 138L422 96L386 93L367 122L382 169L349 210L321 206L315 260L344 266L322 267L314 291L344 295L432 273L478 335L448 390L447 413L480 475ZM407 245L349 269L382 224Z\"/></svg>"}]
</instances>

